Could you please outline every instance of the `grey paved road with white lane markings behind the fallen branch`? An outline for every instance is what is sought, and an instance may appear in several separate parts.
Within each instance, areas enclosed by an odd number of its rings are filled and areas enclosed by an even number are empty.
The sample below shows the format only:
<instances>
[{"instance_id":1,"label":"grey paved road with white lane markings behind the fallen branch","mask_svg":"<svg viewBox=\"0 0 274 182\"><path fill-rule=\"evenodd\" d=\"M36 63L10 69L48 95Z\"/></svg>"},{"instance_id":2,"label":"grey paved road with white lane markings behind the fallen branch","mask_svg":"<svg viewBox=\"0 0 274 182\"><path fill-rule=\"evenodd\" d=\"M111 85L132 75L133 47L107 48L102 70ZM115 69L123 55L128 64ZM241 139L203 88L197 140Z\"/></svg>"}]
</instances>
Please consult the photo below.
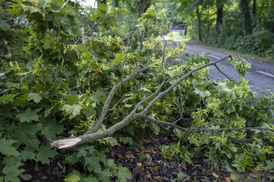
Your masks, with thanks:
<instances>
[{"instance_id":1,"label":"grey paved road with white lane markings behind the fallen branch","mask_svg":"<svg viewBox=\"0 0 274 182\"><path fill-rule=\"evenodd\" d=\"M180 43L176 41L177 43ZM189 53L189 56L183 56L184 60L187 60L191 55L196 55L197 53L206 54L211 52L211 55L206 57L212 61L223 58L227 56L226 52L216 51L209 49L200 45L191 44L186 42L187 50L185 52ZM269 62L263 62L256 59L244 58L247 62L251 63L251 68L246 72L246 78L249 80L251 90L258 93L258 96L262 96L265 93L272 92L274 93L274 64ZM233 65L228 64L229 60L224 60L217 63L217 66L225 72L229 77L233 79L240 78L238 72ZM209 71L209 76L215 79L225 79L214 66L211 67Z\"/></svg>"}]
</instances>

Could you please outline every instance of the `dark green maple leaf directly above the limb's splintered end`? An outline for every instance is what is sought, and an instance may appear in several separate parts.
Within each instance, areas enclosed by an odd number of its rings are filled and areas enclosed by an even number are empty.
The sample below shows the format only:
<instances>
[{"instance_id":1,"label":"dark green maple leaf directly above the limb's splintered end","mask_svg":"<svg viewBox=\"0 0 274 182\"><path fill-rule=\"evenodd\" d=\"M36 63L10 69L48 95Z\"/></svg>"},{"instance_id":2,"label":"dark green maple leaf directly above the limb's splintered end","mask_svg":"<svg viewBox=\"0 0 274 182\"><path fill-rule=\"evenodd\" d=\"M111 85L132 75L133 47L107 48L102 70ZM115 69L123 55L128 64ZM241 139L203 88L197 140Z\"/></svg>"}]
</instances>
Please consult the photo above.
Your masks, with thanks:
<instances>
[{"instance_id":1,"label":"dark green maple leaf directly above the limb's splintered end","mask_svg":"<svg viewBox=\"0 0 274 182\"><path fill-rule=\"evenodd\" d=\"M47 139L55 139L55 134L63 133L64 127L62 124L57 123L55 119L40 119L40 123L43 125L41 133L47 137Z\"/></svg>"}]
</instances>

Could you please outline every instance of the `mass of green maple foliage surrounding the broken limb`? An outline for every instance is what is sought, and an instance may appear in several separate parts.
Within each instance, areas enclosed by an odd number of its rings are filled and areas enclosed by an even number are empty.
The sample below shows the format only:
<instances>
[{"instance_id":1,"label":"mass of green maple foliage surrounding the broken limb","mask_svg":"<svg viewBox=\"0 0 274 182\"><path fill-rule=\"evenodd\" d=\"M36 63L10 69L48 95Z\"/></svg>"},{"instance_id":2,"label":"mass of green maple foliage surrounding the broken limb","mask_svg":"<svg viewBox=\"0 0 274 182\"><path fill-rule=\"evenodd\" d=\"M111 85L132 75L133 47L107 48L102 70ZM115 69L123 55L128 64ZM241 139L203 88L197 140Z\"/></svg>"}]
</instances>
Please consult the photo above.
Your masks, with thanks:
<instances>
[{"instance_id":1,"label":"mass of green maple foliage surrounding the broken limb","mask_svg":"<svg viewBox=\"0 0 274 182\"><path fill-rule=\"evenodd\" d=\"M112 109L107 111L99 131L121 121L131 113L136 103L158 89L164 78L159 72L162 63L176 58L185 49L182 43L175 48L166 47L162 54L166 42L154 34L167 30L167 26L162 26L165 12L157 12L153 7L138 19L140 30L135 35L145 36L138 46L132 48L127 42L133 43L136 39L128 38L127 32L121 32L117 25L125 9L107 8L102 4L92 17L85 17L89 21L81 30L77 18L82 15L73 2L18 2L13 5L5 3L6 8L1 8L5 15L1 14L0 24L0 36L4 40L0 45L0 180L5 182L19 181L17 176L23 172L19 167L26 160L49 164L49 158L57 153L50 149L50 139L79 136L91 129L113 84L150 61L151 69L117 90L110 104ZM10 9L6 12L8 7ZM20 28L12 25L20 25ZM80 39L82 43L79 43ZM183 76L208 62L204 55L198 55L186 63L170 64L164 66L165 76ZM241 75L249 67L245 61L231 63ZM210 79L205 82L208 72L209 68L194 72L160 98L146 115L170 122L182 116L177 124L188 128L228 129L247 125L274 128L270 124L270 116L274 114L273 97L258 99L251 96L248 81L244 78L239 80L239 85L229 80ZM170 80L162 89L176 81ZM148 103L149 100L138 110L144 109ZM78 152L68 154L64 163L83 163L83 168L89 172L80 174L74 171L65 180L109 181L110 176L116 176L118 181L130 179L126 168L117 167L101 152L118 144L118 140L134 146L137 134L153 133L151 131L157 134L161 130L154 123L135 120L121 129L118 136L102 138L77 148ZM208 153L212 148L217 157L227 160L228 167L235 167L238 171L250 170L251 165L258 170L273 171L269 165L274 142L270 130L235 130L216 134L174 129L174 133L184 143L191 143L196 153L210 157ZM235 143L231 137L248 141ZM173 157L176 153L168 152L171 148L164 147L163 153L169 154L163 155ZM187 147L177 147L176 151L180 160L192 155ZM244 152L247 153L244 158L237 158ZM255 157L256 160L251 160Z\"/></svg>"}]
</instances>

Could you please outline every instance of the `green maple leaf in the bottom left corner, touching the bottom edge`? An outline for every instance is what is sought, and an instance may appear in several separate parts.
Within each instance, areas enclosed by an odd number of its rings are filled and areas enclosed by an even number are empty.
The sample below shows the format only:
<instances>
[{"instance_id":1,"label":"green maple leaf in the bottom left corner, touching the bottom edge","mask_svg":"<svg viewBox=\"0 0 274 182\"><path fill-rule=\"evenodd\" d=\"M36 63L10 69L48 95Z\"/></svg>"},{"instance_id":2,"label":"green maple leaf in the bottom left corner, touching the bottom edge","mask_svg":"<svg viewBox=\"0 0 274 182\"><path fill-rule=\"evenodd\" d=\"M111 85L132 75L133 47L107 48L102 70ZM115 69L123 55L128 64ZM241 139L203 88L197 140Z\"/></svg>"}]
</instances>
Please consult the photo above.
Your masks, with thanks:
<instances>
[{"instance_id":1,"label":"green maple leaf in the bottom left corner, touching the bottom edge","mask_svg":"<svg viewBox=\"0 0 274 182\"><path fill-rule=\"evenodd\" d=\"M6 165L4 169L2 170L2 173L5 174L5 182L11 181L11 182L20 182L20 179L18 178L18 175L23 173L24 169L18 169L18 167L21 166L22 163L15 163L13 166Z\"/></svg>"}]
</instances>

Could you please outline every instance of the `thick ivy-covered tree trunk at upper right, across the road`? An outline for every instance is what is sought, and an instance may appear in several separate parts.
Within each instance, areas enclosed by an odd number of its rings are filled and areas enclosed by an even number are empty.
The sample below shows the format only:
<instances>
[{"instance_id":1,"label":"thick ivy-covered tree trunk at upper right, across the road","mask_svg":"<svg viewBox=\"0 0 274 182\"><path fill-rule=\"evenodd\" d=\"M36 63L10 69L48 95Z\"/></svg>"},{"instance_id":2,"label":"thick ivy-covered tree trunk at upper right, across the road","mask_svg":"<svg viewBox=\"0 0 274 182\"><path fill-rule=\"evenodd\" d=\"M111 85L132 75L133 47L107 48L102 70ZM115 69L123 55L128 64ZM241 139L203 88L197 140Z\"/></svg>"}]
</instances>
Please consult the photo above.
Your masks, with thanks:
<instances>
[{"instance_id":1,"label":"thick ivy-covered tree trunk at upper right, across the road","mask_svg":"<svg viewBox=\"0 0 274 182\"><path fill-rule=\"evenodd\" d=\"M249 12L249 0L240 0L239 2L240 10L241 10L241 18L244 23L244 32L245 35L252 33L251 26L251 17Z\"/></svg>"}]
</instances>

